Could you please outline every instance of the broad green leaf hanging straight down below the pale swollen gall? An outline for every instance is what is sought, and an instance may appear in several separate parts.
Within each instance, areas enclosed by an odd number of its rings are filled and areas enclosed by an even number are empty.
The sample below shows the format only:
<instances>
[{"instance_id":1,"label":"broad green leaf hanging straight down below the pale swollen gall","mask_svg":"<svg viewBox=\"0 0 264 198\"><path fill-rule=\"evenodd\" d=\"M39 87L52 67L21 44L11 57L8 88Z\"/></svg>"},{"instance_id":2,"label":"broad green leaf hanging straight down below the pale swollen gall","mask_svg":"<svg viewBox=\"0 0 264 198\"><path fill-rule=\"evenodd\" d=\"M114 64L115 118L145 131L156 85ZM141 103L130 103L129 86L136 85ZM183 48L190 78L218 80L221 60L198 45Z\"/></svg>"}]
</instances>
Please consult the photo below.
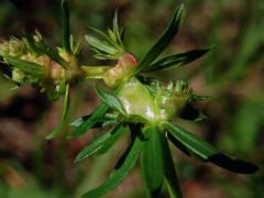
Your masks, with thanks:
<instances>
[{"instance_id":1,"label":"broad green leaf hanging straight down below the pale swollen gall","mask_svg":"<svg viewBox=\"0 0 264 198\"><path fill-rule=\"evenodd\" d=\"M145 182L147 193L157 196L164 183L164 158L161 142L161 131L157 127L143 129L146 141L143 144L141 155L142 177Z\"/></svg>"}]
</instances>

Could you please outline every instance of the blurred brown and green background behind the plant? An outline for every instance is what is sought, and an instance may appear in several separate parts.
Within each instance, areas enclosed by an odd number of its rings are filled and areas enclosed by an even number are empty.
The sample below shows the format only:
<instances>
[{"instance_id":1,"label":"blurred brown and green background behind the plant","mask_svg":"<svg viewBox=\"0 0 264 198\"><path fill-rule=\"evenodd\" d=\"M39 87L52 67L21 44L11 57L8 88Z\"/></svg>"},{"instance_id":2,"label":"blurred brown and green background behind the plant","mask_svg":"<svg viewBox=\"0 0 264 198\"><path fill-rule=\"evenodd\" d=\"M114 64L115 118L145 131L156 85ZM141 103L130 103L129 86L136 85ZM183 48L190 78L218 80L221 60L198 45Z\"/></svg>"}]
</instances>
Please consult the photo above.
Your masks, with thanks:
<instances>
[{"instance_id":1,"label":"blurred brown and green background behind the plant","mask_svg":"<svg viewBox=\"0 0 264 198\"><path fill-rule=\"evenodd\" d=\"M156 41L177 4L187 14L167 53L212 46L200 61L185 68L153 74L158 79L188 79L194 91L213 95L199 102L208 119L177 120L220 151L257 164L254 175L237 175L190 160L175 150L175 162L186 198L260 198L264 195L264 1L263 0L69 0L74 36L88 26L107 30L113 12L127 26L125 46L141 58ZM0 0L0 40L21 37L37 29L53 46L61 44L59 0ZM81 61L100 64L84 45ZM2 73L9 73L1 64ZM99 100L95 81L72 88L69 121L89 113ZM100 84L100 82L99 82ZM75 155L102 131L67 140L44 138L59 121L61 100L50 102L32 87L12 89L0 76L0 198L75 198L99 185L128 145L122 139L103 155L74 164ZM65 133L72 129L66 128ZM106 197L145 197L139 164ZM166 196L166 189L161 197Z\"/></svg>"}]
</instances>

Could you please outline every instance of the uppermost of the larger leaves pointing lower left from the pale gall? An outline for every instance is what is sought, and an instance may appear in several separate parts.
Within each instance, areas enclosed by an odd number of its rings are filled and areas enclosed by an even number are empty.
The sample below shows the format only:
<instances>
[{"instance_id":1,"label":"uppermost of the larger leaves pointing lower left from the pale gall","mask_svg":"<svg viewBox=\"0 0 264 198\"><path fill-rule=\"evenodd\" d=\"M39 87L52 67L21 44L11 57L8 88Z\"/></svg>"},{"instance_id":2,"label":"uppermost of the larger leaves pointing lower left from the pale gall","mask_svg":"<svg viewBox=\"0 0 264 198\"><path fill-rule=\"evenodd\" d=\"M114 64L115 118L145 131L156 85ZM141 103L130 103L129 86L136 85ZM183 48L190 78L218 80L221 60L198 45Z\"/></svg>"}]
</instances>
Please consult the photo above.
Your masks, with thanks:
<instances>
[{"instance_id":1,"label":"uppermost of the larger leaves pointing lower left from the pale gall","mask_svg":"<svg viewBox=\"0 0 264 198\"><path fill-rule=\"evenodd\" d=\"M69 135L69 138L77 138L86 133L89 129L91 129L95 124L98 123L98 119L102 119L105 113L108 110L108 106L106 103L100 105L92 114L81 122L75 131Z\"/></svg>"}]
</instances>

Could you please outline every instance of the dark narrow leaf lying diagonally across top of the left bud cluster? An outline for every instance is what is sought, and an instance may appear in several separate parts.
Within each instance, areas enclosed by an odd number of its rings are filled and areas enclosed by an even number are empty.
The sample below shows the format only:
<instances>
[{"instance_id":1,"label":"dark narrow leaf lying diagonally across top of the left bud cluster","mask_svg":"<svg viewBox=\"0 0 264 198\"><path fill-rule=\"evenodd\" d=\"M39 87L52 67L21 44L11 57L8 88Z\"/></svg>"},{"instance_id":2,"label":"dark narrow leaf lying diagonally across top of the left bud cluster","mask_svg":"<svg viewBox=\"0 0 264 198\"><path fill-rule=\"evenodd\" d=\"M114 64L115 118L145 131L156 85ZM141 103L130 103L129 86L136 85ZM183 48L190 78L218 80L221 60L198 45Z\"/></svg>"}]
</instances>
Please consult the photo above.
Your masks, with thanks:
<instances>
[{"instance_id":1,"label":"dark narrow leaf lying diagonally across top of the left bud cluster","mask_svg":"<svg viewBox=\"0 0 264 198\"><path fill-rule=\"evenodd\" d=\"M43 42L35 42L35 40L25 33L25 38L29 42L30 46L38 54L45 54L51 57L54 62L58 63L62 67L67 68L68 63L65 62L57 52L52 47L45 45Z\"/></svg>"}]
</instances>

